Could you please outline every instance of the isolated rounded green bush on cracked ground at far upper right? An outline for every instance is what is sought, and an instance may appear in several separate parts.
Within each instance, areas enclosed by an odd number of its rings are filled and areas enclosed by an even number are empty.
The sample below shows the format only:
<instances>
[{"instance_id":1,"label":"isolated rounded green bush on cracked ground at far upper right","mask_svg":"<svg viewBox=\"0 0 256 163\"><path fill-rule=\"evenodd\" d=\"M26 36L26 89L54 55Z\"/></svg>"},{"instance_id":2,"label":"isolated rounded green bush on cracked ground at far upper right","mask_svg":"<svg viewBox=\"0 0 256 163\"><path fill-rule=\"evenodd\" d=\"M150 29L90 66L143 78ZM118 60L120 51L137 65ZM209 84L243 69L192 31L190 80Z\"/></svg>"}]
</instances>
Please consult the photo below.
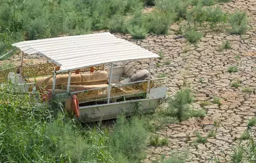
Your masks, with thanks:
<instances>
[{"instance_id":1,"label":"isolated rounded green bush on cracked ground at far upper right","mask_svg":"<svg viewBox=\"0 0 256 163\"><path fill-rule=\"evenodd\" d=\"M248 30L247 15L244 12L235 11L230 15L231 34L245 34Z\"/></svg>"}]
</instances>

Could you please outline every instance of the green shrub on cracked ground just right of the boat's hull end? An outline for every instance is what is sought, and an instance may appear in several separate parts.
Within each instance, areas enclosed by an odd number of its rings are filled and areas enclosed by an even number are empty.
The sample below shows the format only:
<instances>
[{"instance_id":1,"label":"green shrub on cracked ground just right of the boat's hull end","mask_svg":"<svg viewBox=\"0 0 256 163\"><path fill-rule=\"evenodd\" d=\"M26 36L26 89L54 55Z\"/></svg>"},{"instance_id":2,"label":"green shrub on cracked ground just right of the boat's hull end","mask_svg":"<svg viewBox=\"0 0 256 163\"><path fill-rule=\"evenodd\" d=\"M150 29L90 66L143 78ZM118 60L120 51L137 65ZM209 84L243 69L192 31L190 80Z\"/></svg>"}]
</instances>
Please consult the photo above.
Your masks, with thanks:
<instances>
[{"instance_id":1,"label":"green shrub on cracked ground just right of the boat's hull end","mask_svg":"<svg viewBox=\"0 0 256 163\"><path fill-rule=\"evenodd\" d=\"M168 101L166 115L177 117L179 121L189 118L189 105L193 101L189 89L179 90L175 98Z\"/></svg>"}]
</instances>

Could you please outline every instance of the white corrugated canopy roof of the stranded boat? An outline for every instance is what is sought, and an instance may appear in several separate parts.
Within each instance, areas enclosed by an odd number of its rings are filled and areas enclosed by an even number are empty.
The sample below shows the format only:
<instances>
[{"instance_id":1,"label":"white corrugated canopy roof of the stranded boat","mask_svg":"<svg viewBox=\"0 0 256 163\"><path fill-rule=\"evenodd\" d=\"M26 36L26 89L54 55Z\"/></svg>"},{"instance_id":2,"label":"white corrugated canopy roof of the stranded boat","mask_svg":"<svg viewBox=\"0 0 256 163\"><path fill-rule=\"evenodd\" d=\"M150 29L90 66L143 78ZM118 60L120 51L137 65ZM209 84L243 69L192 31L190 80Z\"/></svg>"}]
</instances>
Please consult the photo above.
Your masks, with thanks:
<instances>
[{"instance_id":1,"label":"white corrugated canopy roof of the stranded boat","mask_svg":"<svg viewBox=\"0 0 256 163\"><path fill-rule=\"evenodd\" d=\"M60 65L62 71L158 57L156 53L125 39L118 39L109 32L23 41L12 45L27 54L47 56Z\"/></svg>"}]
</instances>

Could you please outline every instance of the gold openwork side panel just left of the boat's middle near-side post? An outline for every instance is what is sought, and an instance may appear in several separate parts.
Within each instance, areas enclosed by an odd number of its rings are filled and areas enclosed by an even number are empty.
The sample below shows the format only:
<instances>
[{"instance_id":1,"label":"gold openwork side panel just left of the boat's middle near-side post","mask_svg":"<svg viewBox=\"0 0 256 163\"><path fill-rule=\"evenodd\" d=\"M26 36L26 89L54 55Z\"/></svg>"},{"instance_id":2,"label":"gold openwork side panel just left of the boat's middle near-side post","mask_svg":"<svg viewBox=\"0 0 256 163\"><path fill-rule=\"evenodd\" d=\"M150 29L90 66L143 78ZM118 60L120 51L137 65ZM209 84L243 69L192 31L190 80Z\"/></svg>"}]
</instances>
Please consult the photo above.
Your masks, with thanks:
<instances>
[{"instance_id":1,"label":"gold openwork side panel just left of the boat's middle near-side post","mask_svg":"<svg viewBox=\"0 0 256 163\"><path fill-rule=\"evenodd\" d=\"M107 98L108 97L108 88L99 88L97 90L85 90L84 92L78 93L76 96L77 96L79 102Z\"/></svg>"}]
</instances>

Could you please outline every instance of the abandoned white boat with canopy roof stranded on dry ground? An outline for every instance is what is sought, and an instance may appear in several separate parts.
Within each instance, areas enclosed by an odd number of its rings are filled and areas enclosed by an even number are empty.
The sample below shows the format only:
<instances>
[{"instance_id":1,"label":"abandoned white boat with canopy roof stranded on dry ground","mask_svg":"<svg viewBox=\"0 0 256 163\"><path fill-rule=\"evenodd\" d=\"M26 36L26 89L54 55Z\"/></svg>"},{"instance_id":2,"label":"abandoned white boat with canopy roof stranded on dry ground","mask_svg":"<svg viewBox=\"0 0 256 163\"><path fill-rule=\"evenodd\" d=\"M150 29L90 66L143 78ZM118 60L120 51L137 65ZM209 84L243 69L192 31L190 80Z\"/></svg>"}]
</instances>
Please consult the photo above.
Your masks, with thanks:
<instances>
[{"instance_id":1,"label":"abandoned white boat with canopy roof stranded on dry ground","mask_svg":"<svg viewBox=\"0 0 256 163\"><path fill-rule=\"evenodd\" d=\"M29 93L46 105L62 100L84 122L128 116L136 108L152 112L167 96L166 77L151 75L153 59L159 56L109 32L12 45L22 51L20 66L0 71L0 82L12 84L12 93ZM49 63L23 65L24 53L46 56ZM149 60L148 70L134 73L132 66L120 64L141 59ZM176 93L169 90L171 96Z\"/></svg>"}]
</instances>

